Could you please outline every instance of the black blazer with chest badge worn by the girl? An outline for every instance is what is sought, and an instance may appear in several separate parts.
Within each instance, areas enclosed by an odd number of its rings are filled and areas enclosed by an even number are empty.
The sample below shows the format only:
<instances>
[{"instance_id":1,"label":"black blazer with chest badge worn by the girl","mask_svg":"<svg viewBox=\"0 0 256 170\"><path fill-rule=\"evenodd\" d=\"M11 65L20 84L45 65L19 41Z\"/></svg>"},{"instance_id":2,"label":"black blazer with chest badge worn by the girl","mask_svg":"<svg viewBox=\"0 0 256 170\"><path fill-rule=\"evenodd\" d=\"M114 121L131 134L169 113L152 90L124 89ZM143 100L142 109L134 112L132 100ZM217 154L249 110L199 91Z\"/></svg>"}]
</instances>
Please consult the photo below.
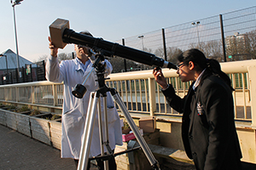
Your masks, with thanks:
<instances>
[{"instance_id":1,"label":"black blazer with chest badge worn by the girl","mask_svg":"<svg viewBox=\"0 0 256 170\"><path fill-rule=\"evenodd\" d=\"M168 104L183 113L182 138L196 169L241 169L231 88L206 70L200 85L181 99L172 85L162 90Z\"/></svg>"}]
</instances>

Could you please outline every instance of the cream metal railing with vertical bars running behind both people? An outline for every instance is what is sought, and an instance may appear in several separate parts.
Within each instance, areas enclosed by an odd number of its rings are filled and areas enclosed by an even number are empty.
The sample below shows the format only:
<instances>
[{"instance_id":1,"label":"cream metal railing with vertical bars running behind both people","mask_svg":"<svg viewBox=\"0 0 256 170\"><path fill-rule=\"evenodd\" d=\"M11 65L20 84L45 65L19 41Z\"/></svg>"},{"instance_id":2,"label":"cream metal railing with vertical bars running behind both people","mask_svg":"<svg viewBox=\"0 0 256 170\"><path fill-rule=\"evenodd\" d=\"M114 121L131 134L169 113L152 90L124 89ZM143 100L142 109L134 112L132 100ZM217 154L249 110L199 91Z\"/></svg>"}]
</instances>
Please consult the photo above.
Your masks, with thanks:
<instances>
[{"instance_id":1,"label":"cream metal railing with vertical bars running behind both people","mask_svg":"<svg viewBox=\"0 0 256 170\"><path fill-rule=\"evenodd\" d=\"M256 125L256 60L221 63L222 70L232 82L237 121ZM174 70L163 69L168 82L177 95L187 94L191 82L180 82ZM148 115L182 116L166 104L160 87L154 81L152 70L115 73L106 81L108 87L116 88L128 111ZM28 105L63 104L63 84L53 82L27 82L0 86L0 101L27 103ZM117 106L118 108L118 106Z\"/></svg>"}]
</instances>

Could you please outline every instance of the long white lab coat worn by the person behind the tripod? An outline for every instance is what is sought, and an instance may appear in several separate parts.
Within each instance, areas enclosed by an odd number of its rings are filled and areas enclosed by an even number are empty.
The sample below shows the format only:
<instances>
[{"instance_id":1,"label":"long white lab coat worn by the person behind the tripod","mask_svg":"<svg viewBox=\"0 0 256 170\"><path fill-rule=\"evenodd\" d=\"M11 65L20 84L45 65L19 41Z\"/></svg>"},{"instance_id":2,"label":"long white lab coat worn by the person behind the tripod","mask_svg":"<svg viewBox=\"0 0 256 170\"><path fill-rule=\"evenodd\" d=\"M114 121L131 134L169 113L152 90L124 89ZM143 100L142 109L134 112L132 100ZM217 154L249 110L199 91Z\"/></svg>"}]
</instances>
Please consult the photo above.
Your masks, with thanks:
<instances>
[{"instance_id":1,"label":"long white lab coat worn by the person behind the tripod","mask_svg":"<svg viewBox=\"0 0 256 170\"><path fill-rule=\"evenodd\" d=\"M112 65L105 59L106 71L108 74L112 71ZM90 74L90 77L84 84L87 89L82 99L73 96L72 91L76 84L82 84L85 77L92 69L92 64L88 65L84 72L76 59L62 60L59 65L58 59L50 56L46 63L46 78L50 82L64 82L64 101L62 110L62 136L61 136L61 157L79 159L80 148L84 134L84 122L87 114L90 93L94 92L98 86L96 82L96 72ZM122 145L122 134L119 122L119 114L116 108L112 108L113 99L108 93L108 138L109 145L113 150L115 144ZM102 98L101 98L102 99ZM103 113L103 100L102 113ZM93 130L93 136L90 144L90 156L101 154L99 127L96 114L96 121ZM106 151L106 150L105 150Z\"/></svg>"}]
</instances>

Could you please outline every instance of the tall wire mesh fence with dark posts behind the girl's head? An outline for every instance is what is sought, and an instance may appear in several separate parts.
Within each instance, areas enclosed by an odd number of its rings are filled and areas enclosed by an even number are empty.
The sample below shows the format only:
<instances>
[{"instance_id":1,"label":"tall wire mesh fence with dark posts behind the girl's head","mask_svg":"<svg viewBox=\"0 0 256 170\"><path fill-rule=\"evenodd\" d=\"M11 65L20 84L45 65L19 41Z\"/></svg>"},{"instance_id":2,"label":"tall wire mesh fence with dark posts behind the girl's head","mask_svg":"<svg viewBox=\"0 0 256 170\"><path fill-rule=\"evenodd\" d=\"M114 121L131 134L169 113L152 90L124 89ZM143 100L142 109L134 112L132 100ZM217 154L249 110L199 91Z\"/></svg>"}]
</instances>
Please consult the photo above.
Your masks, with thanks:
<instances>
[{"instance_id":1,"label":"tall wire mesh fence with dark posts behind the girl's head","mask_svg":"<svg viewBox=\"0 0 256 170\"><path fill-rule=\"evenodd\" d=\"M256 6L116 41L171 62L189 48L218 61L256 59Z\"/></svg>"}]
</instances>

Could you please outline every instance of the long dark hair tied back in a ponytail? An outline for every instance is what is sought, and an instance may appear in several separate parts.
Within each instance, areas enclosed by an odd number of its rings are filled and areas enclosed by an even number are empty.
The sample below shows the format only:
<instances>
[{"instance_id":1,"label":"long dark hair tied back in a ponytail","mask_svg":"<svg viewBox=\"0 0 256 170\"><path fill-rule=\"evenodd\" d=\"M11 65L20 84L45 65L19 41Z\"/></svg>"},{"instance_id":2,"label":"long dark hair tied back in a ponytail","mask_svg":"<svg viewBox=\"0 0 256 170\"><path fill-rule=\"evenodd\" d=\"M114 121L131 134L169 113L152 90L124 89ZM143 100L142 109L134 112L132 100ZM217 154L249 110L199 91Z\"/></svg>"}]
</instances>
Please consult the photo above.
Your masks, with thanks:
<instances>
[{"instance_id":1,"label":"long dark hair tied back in a ponytail","mask_svg":"<svg viewBox=\"0 0 256 170\"><path fill-rule=\"evenodd\" d=\"M204 69L209 69L212 74L217 75L226 82L232 90L230 77L221 71L221 67L216 59L207 59L205 54L203 54L199 49L191 48L182 54L177 56L179 62L183 62L185 65L189 65L189 61L195 64L195 71L202 71Z\"/></svg>"}]
</instances>

